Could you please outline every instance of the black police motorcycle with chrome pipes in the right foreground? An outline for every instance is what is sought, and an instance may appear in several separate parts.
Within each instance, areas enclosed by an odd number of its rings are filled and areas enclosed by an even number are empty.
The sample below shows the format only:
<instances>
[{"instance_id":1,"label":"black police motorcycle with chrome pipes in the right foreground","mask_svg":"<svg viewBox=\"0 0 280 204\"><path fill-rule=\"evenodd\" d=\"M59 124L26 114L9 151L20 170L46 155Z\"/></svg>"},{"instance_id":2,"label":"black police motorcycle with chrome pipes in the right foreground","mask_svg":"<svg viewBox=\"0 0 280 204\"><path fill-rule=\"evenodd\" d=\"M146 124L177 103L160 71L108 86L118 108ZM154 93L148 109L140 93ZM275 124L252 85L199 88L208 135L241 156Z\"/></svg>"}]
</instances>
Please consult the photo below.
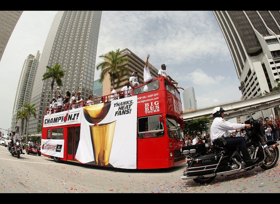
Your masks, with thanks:
<instances>
[{"instance_id":1,"label":"black police motorcycle with chrome pipes in the right foreground","mask_svg":"<svg viewBox=\"0 0 280 204\"><path fill-rule=\"evenodd\" d=\"M256 164L246 166L242 153L238 148L219 147L215 142L183 146L182 153L186 156L186 170L181 179L193 179L196 183L206 184L213 181L216 176L232 175L246 172L261 167L264 170L273 168L279 158L279 143L266 139L265 128L259 120L254 120L247 111L245 124L250 124L251 129L245 128L247 149L251 158L259 157ZM225 143L222 138L220 142Z\"/></svg>"}]
</instances>

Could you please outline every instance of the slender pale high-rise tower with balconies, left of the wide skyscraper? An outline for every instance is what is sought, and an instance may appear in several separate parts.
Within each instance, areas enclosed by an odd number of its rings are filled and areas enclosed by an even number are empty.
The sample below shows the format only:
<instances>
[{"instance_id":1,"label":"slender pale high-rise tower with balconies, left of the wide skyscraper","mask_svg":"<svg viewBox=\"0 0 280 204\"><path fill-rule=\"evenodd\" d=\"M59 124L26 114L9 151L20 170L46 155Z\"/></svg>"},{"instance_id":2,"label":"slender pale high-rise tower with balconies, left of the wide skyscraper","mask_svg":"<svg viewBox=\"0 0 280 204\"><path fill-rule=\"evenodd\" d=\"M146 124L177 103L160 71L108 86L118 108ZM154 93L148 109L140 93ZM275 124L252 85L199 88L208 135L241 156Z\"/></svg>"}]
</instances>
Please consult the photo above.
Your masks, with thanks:
<instances>
[{"instance_id":1,"label":"slender pale high-rise tower with balconies, left of the wide skyscraper","mask_svg":"<svg viewBox=\"0 0 280 204\"><path fill-rule=\"evenodd\" d=\"M34 78L39 64L40 51L38 50L36 54L29 55L24 60L22 70L20 73L20 79L17 85L17 92L15 94L15 102L13 107L13 114L11 120L11 130L16 130L17 126L19 128L19 133L23 136L26 132L27 122L24 120L17 120L17 111L22 110L22 105L24 103L30 104L31 92L33 89Z\"/></svg>"}]
</instances>

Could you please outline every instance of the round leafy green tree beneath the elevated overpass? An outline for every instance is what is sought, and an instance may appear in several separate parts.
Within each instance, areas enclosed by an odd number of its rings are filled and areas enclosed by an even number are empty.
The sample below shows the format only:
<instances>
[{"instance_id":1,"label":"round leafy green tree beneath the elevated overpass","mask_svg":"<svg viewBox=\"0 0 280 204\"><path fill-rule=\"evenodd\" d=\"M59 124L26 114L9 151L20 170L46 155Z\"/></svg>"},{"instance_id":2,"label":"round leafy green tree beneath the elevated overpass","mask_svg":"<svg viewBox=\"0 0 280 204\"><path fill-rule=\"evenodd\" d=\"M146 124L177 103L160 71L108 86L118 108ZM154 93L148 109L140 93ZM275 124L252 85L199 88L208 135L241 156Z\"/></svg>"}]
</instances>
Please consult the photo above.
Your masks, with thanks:
<instances>
[{"instance_id":1,"label":"round leafy green tree beneath the elevated overpass","mask_svg":"<svg viewBox=\"0 0 280 204\"><path fill-rule=\"evenodd\" d=\"M191 133L193 131L195 132L202 132L202 131L208 131L207 124L209 124L210 120L208 117L202 117L195 120L189 120L184 122L184 132Z\"/></svg>"}]
</instances>

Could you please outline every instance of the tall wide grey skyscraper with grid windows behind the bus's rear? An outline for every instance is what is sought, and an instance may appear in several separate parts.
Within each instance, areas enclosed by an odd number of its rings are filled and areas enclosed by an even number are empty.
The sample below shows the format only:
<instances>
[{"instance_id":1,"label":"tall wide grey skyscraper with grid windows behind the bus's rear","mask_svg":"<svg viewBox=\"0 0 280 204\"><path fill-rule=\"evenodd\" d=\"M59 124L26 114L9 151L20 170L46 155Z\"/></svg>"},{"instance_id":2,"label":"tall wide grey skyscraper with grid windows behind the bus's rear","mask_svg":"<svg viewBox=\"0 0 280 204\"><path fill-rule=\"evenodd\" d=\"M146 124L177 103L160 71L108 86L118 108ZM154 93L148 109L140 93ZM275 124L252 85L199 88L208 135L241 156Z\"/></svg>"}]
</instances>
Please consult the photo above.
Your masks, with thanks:
<instances>
[{"instance_id":1,"label":"tall wide grey skyscraper with grid windows behind the bus's rear","mask_svg":"<svg viewBox=\"0 0 280 204\"><path fill-rule=\"evenodd\" d=\"M36 119L30 117L28 132L37 133L42 125L43 116L50 101L55 96L51 93L50 79L42 81L47 72L46 66L56 63L65 70L60 94L66 91L81 91L83 99L92 94L97 42L102 11L58 11L48 33L38 70L30 104L35 103ZM53 91L57 91L57 84Z\"/></svg>"}]
</instances>

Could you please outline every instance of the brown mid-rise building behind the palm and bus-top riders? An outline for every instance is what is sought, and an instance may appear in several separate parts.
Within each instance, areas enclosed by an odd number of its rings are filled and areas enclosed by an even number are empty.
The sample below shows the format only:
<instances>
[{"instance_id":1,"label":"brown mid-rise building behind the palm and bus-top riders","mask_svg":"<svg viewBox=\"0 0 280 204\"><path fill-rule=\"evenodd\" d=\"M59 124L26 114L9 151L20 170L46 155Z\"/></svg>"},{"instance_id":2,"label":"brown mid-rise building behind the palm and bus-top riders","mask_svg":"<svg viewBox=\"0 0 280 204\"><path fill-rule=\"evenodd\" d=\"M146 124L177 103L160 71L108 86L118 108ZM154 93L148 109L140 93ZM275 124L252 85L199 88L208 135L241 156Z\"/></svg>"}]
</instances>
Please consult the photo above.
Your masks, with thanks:
<instances>
[{"instance_id":1,"label":"brown mid-rise building behind the palm and bus-top riders","mask_svg":"<svg viewBox=\"0 0 280 204\"><path fill-rule=\"evenodd\" d=\"M123 49L120 51L119 57L129 58L129 61L125 62L125 66L128 67L130 75L124 77L121 80L121 83L118 87L116 87L116 83L115 83L115 90L118 92L118 91L120 91L120 89L122 89L122 87L126 86L127 82L129 82L129 77L131 77L132 72L135 72L135 71L138 72L137 75L139 76L140 84L143 84L144 83L143 73L144 73L144 67L146 64L146 56L145 56L145 61L144 61L141 58L139 58L136 54L134 54L132 51L130 51L129 49L126 48L126 49ZM158 77L158 74L157 74L158 70L150 63L148 63L148 66L150 67L151 76ZM117 80L115 80L115 82L116 81ZM103 89L102 89L103 94L102 95L107 95L107 94L111 93L111 85L113 85L113 84L110 83L109 75L106 75L106 77L103 81Z\"/></svg>"}]
</instances>

